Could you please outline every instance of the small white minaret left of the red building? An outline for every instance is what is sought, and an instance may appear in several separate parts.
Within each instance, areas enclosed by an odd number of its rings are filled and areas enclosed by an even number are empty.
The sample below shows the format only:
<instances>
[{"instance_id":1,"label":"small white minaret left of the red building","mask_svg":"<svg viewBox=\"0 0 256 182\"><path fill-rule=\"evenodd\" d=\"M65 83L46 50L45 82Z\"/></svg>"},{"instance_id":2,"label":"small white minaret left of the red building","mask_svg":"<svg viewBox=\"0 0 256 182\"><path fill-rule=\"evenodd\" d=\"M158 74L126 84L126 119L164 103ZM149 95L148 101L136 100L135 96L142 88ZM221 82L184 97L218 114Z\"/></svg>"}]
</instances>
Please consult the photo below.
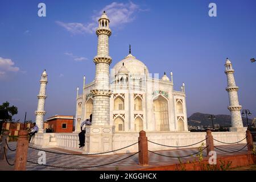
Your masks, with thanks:
<instances>
[{"instance_id":1,"label":"small white minaret left of the red building","mask_svg":"<svg viewBox=\"0 0 256 182\"><path fill-rule=\"evenodd\" d=\"M36 115L36 125L39 127L39 133L43 133L44 130L44 115L46 111L44 111L44 104L46 102L46 85L47 85L47 74L46 70L42 73L40 80L40 91L38 94L38 110L35 111Z\"/></svg>"}]
</instances>

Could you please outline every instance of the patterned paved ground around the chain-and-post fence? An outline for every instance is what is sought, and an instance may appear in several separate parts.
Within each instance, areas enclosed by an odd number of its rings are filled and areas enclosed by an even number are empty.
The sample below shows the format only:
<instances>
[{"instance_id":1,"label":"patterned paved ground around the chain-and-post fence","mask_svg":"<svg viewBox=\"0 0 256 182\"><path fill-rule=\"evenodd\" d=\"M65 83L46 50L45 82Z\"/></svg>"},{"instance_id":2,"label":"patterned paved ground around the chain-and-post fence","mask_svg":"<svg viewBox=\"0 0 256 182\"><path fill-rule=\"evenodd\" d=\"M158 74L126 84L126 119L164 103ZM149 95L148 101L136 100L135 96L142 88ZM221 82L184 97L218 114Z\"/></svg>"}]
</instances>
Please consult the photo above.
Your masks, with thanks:
<instances>
[{"instance_id":1,"label":"patterned paved ground around the chain-and-post fence","mask_svg":"<svg viewBox=\"0 0 256 182\"><path fill-rule=\"evenodd\" d=\"M16 142L9 142L10 148L16 147ZM218 148L225 150L225 151L237 151L243 148L245 144L235 144L229 146L219 146ZM77 154L77 152L67 151L60 148L47 148L48 151L55 151L55 152L62 152L65 154ZM156 153L161 155L167 156L185 156L191 155L195 152L198 152L197 148L189 148L183 150L168 150L168 151L157 151ZM219 150L215 150L218 155L234 155L234 154L245 154L247 151L247 147L243 148L240 152L235 153L226 153ZM34 150L28 148L28 159L31 162L38 163L38 150ZM138 165L138 154L127 158L132 154L117 154L117 155L109 155L109 156L75 156L75 155L61 155L61 154L52 154L46 152L46 164L49 166L58 166L64 168L56 168L56 167L45 167L39 166L38 164L27 163L27 170L125 170L125 169L139 169L142 168ZM149 155L149 167L151 166L162 166L168 164L175 164L179 163L177 158L170 158L166 156L160 156L157 154L153 154L151 152L148 153ZM203 151L203 155L206 156L206 150ZM195 156L195 155L194 155ZM15 151L8 150L7 152L7 159L11 164L14 163L15 158ZM127 158L125 160L116 162L118 160ZM182 158L183 162L187 162L187 160L192 159L191 156ZM113 163L116 162L116 163ZM113 164L108 164L113 163ZM106 166L101 167L94 167L98 165ZM82 168L82 169L65 169L65 167L91 167L91 168ZM10 167L5 160L0 161L0 170L12 170L13 167Z\"/></svg>"}]
</instances>

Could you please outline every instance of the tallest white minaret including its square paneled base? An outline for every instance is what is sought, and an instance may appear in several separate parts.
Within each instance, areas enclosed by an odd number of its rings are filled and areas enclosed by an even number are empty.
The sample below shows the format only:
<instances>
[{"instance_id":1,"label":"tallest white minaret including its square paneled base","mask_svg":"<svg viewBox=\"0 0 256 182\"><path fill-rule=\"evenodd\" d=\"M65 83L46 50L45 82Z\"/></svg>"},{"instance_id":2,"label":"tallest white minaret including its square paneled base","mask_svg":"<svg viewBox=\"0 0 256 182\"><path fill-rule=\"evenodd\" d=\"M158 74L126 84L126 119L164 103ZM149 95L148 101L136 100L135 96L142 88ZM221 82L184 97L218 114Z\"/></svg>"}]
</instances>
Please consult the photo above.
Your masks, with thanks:
<instances>
[{"instance_id":1,"label":"tallest white minaret including its square paneled base","mask_svg":"<svg viewBox=\"0 0 256 182\"><path fill-rule=\"evenodd\" d=\"M105 11L98 20L96 34L98 36L94 88L90 90L93 97L92 125L86 126L85 153L113 150L114 126L110 125L110 75L109 65L109 18Z\"/></svg>"}]
</instances>

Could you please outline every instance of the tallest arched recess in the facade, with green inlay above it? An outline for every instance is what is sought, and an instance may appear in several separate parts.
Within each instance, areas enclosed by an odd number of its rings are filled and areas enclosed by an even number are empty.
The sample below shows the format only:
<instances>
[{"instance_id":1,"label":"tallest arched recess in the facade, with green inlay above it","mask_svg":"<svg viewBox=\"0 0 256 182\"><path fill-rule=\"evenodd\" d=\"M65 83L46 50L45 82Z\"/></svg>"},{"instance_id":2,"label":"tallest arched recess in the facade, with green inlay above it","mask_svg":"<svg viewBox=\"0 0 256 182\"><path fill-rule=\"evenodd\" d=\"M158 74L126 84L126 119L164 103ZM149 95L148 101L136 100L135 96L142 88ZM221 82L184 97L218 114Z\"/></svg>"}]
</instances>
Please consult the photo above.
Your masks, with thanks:
<instances>
[{"instance_id":1,"label":"tallest arched recess in the facade, with green inlay above it","mask_svg":"<svg viewBox=\"0 0 256 182\"><path fill-rule=\"evenodd\" d=\"M155 115L155 130L169 131L168 101L163 96L158 96L153 101Z\"/></svg>"}]
</instances>

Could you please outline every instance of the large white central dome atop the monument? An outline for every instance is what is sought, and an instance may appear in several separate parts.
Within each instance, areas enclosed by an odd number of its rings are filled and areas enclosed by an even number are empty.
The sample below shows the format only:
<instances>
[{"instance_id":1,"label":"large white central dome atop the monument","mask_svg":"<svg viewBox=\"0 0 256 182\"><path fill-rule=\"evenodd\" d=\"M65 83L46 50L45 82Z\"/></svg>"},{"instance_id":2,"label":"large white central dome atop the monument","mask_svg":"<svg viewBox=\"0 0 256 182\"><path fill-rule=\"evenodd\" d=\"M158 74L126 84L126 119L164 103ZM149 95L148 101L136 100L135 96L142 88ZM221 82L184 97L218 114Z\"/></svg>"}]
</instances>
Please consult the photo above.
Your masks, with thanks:
<instances>
[{"instance_id":1,"label":"large white central dome atop the monument","mask_svg":"<svg viewBox=\"0 0 256 182\"><path fill-rule=\"evenodd\" d=\"M125 59L119 61L117 64L114 65L113 69L115 69L115 75L117 75L119 69L122 67L123 64L131 75L144 75L144 72L148 74L148 69L146 65L129 53L129 55L126 56Z\"/></svg>"}]
</instances>

